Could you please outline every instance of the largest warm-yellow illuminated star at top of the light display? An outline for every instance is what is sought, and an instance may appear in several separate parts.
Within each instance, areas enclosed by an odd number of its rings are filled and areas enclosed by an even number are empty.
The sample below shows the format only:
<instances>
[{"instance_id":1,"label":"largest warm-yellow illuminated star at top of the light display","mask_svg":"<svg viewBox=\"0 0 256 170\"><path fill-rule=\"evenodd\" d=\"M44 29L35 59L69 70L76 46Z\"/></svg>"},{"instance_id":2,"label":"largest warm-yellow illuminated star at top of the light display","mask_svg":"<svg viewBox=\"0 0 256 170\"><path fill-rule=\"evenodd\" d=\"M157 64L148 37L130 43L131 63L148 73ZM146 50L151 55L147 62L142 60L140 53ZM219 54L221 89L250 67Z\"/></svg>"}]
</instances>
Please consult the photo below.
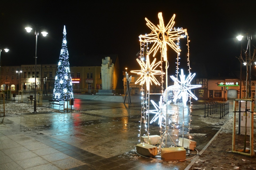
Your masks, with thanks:
<instances>
[{"instance_id":1,"label":"largest warm-yellow illuminated star at top of the light display","mask_svg":"<svg viewBox=\"0 0 256 170\"><path fill-rule=\"evenodd\" d=\"M155 56L156 52L158 51L159 48L161 48L161 53L163 60L167 60L167 44L176 52L179 53L181 49L179 48L178 44L175 44L173 41L179 40L180 38L184 38L187 35L187 30L186 29L175 29L173 28L174 25L174 18L175 14L169 21L169 23L166 25L163 22L163 16L162 12L158 13L158 18L159 18L159 25L157 27L151 23L147 18L145 18L147 22L147 26L152 30L150 34L146 35L140 35L140 41L142 41L142 38L144 39L143 41L146 43L151 43L153 42L153 46L149 50L148 54L153 53L153 57ZM185 33L185 35L181 35L182 33Z\"/></svg>"}]
</instances>

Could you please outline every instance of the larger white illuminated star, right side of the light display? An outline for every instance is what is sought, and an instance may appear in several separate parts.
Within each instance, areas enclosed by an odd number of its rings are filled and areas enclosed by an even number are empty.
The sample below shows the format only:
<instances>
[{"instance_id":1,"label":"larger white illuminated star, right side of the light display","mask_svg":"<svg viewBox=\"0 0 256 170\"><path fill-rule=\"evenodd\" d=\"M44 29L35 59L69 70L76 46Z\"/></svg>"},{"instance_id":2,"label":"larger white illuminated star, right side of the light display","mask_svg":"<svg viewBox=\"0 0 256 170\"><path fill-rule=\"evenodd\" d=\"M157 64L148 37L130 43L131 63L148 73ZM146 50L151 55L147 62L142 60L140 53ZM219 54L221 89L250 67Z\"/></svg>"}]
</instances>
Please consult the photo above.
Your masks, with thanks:
<instances>
[{"instance_id":1,"label":"larger white illuminated star, right side of the light display","mask_svg":"<svg viewBox=\"0 0 256 170\"><path fill-rule=\"evenodd\" d=\"M201 87L201 85L191 85L190 84L192 79L195 77L195 73L192 75L191 75L191 73L189 73L188 77L185 79L183 69L181 69L181 75L179 75L180 81L174 76L170 76L170 77L171 77L171 79L173 79L174 85L168 87L167 95L170 95L170 91L174 92L174 98L173 98L174 103L178 99L180 99L180 100L182 99L183 105L186 106L186 102L188 100L189 95L191 97L193 97L195 100L197 100L197 97L191 92L191 89Z\"/></svg>"}]
</instances>

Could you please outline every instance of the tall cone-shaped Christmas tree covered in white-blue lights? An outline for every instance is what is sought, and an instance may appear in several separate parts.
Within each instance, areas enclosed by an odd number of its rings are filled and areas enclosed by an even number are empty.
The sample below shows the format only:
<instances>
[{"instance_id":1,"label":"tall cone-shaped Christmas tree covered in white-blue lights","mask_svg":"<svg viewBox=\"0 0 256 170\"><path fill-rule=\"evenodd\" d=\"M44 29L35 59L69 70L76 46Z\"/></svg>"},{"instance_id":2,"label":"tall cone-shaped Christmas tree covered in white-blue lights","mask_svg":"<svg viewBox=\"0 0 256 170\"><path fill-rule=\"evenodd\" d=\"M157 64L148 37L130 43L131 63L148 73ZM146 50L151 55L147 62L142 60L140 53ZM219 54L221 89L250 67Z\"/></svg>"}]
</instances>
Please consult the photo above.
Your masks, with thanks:
<instances>
[{"instance_id":1,"label":"tall cone-shaped Christmas tree covered in white-blue lights","mask_svg":"<svg viewBox=\"0 0 256 170\"><path fill-rule=\"evenodd\" d=\"M74 99L72 80L69 69L69 53L67 52L66 34L66 28L64 25L61 54L59 55L58 70L56 73L53 90L53 100L63 101L65 93L70 93L70 95L65 95L65 100L69 100L70 98Z\"/></svg>"}]
</instances>

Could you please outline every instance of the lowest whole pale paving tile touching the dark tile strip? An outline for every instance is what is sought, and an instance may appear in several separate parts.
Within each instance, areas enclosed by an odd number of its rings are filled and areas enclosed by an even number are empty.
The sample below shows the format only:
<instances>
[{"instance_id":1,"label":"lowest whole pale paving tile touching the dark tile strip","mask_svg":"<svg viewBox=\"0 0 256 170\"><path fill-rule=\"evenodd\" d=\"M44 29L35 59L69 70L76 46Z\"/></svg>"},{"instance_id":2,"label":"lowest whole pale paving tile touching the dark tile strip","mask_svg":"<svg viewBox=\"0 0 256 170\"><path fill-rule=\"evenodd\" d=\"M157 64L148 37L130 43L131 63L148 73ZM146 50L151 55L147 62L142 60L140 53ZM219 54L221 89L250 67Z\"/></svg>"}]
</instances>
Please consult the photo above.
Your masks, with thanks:
<instances>
[{"instance_id":1,"label":"lowest whole pale paving tile touching the dark tile strip","mask_svg":"<svg viewBox=\"0 0 256 170\"><path fill-rule=\"evenodd\" d=\"M52 162L52 164L54 164L55 166L57 166L61 169L70 169L70 168L84 165L85 163L83 163L75 158L68 158L68 159L63 159L63 160Z\"/></svg>"}]
</instances>

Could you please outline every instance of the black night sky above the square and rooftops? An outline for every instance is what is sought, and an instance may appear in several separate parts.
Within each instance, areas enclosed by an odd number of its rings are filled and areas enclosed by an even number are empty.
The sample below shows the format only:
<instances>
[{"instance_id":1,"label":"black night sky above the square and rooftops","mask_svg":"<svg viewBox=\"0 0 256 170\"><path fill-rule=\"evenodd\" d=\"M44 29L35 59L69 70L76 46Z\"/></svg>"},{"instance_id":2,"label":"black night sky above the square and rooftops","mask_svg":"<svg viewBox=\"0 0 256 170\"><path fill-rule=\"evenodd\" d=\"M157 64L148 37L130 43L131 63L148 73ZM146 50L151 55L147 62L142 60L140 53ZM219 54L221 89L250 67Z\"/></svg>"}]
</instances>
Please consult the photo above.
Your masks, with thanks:
<instances>
[{"instance_id":1,"label":"black night sky above the square and rooftops","mask_svg":"<svg viewBox=\"0 0 256 170\"><path fill-rule=\"evenodd\" d=\"M191 61L205 63L209 76L228 75L240 67L236 57L240 55L241 42L235 37L250 29L255 35L251 49L256 46L255 7L256 1L2 0L0 44L10 51L1 53L1 65L35 63L34 31L27 33L25 30L32 23L45 27L48 32L46 37L38 36L38 64L58 63L66 25L71 66L75 66L72 63L82 55L118 54L121 70L125 67L137 70L140 69L136 61L140 50L138 37L151 32L145 17L157 25L158 12L162 12L165 25L175 14L174 27L187 29ZM186 39L181 39L181 65L185 66L186 42ZM246 38L242 45L246 48ZM172 67L176 54L168 48L167 55ZM256 68L252 68L253 72Z\"/></svg>"}]
</instances>

